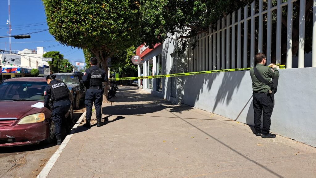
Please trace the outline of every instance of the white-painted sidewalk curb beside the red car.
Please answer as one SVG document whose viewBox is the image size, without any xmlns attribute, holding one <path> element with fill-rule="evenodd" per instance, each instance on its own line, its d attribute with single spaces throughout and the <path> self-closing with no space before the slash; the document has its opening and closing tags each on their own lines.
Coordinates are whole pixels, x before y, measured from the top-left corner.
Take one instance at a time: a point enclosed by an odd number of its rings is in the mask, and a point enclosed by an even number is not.
<svg viewBox="0 0 316 178">
<path fill-rule="evenodd" d="M 85 110 L 81 117 L 78 119 L 78 121 L 76 122 L 76 124 L 72 127 L 71 129 L 71 133 L 68 134 L 66 136 L 66 138 L 64 139 L 63 143 L 58 147 L 58 149 L 56 150 L 56 152 L 52 155 L 52 157 L 48 160 L 48 162 L 46 163 L 45 167 L 40 171 L 40 174 L 36 177 L 36 178 L 46 178 L 47 175 L 51 172 L 53 166 L 55 165 L 58 157 L 60 156 L 60 154 L 63 152 L 63 150 L 66 148 L 68 142 L 70 141 L 71 137 L 74 135 L 74 133 L 77 130 L 77 127 L 80 125 L 80 123 L 83 121 L 83 118 L 86 116 L 86 111 Z"/>
</svg>

